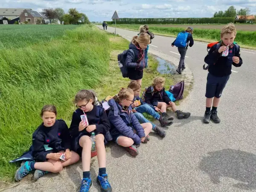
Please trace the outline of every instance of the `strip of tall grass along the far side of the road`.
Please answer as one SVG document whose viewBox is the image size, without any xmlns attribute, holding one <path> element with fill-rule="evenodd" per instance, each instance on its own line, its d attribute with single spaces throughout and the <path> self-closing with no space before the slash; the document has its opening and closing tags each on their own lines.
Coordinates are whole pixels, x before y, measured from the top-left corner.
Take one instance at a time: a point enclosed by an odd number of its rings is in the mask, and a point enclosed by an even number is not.
<svg viewBox="0 0 256 192">
<path fill-rule="evenodd" d="M 140 25 L 120 24 L 117 25 L 117 27 L 139 31 Z M 184 31 L 184 29 L 180 27 L 149 26 L 149 28 L 151 32 L 163 35 L 177 35 L 179 32 Z M 198 39 L 219 41 L 220 34 L 221 30 L 218 29 L 194 29 L 193 37 Z M 256 47 L 256 31 L 237 31 L 235 41 L 238 42 L 238 44 Z"/>
</svg>

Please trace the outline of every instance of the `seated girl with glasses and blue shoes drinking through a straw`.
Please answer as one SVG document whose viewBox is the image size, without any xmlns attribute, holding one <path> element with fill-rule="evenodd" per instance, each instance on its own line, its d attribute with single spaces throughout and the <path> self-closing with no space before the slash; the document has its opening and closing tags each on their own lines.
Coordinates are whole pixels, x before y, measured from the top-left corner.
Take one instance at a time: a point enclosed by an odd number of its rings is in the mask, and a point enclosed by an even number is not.
<svg viewBox="0 0 256 192">
<path fill-rule="evenodd" d="M 80 90 L 76 94 L 74 102 L 78 109 L 73 113 L 70 133 L 74 150 L 80 151 L 82 156 L 83 179 L 80 192 L 88 192 L 92 185 L 90 177 L 92 148 L 90 136 L 92 132 L 96 135 L 97 158 L 99 162 L 97 182 L 100 184 L 102 191 L 111 192 L 112 188 L 106 173 L 106 151 L 104 145 L 104 136 L 110 129 L 107 114 L 104 110 L 101 110 L 100 114 L 98 113 L 98 108 L 100 107 L 94 105 L 94 95 L 89 90 Z M 81 115 L 86 115 L 89 125 L 81 121 Z"/>
</svg>

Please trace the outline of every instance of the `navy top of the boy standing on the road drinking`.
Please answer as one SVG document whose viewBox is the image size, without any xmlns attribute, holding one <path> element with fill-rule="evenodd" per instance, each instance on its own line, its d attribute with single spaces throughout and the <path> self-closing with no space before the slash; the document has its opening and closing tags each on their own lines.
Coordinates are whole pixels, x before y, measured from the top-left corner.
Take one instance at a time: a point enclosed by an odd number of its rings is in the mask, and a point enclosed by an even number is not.
<svg viewBox="0 0 256 192">
<path fill-rule="evenodd" d="M 236 50 L 235 46 L 229 49 L 229 54 L 224 57 L 216 50 L 217 44 L 212 46 L 208 54 L 204 58 L 204 62 L 209 65 L 208 71 L 213 76 L 223 77 L 231 74 L 232 65 L 240 67 L 243 64 L 240 57 L 240 47 Z M 239 57 L 239 64 L 235 64 L 232 60 L 233 56 Z"/>
</svg>

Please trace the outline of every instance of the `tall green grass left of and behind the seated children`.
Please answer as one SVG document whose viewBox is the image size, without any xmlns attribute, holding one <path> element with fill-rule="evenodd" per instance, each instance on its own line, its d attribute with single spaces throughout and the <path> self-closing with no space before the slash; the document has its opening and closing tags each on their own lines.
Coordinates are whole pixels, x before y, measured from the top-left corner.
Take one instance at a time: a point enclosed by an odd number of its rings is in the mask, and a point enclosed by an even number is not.
<svg viewBox="0 0 256 192">
<path fill-rule="evenodd" d="M 57 34 L 61 27 L 62 36 L 34 44 L 45 38 L 45 33 Z M 9 160 L 31 145 L 31 135 L 41 124 L 43 105 L 55 105 L 58 117 L 69 120 L 76 92 L 95 87 L 107 73 L 108 36 L 90 25 L 67 31 L 61 27 L 40 26 L 38 36 L 30 40 L 16 39 L 13 32 L 28 29 L 26 26 L 6 29 L 17 44 L 31 46 L 15 48 L 13 42 L 6 41 L 9 49 L 0 52 L 0 180 L 13 178 L 17 168 Z M 40 29 L 44 29 L 41 34 Z"/>
</svg>

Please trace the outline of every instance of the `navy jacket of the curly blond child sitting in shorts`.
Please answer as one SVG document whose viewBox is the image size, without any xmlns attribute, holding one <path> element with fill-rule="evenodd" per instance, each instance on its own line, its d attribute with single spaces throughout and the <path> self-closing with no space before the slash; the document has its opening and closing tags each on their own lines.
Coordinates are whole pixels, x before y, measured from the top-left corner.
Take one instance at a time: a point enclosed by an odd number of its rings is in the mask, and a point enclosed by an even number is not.
<svg viewBox="0 0 256 192">
<path fill-rule="evenodd" d="M 169 104 L 171 99 L 166 94 L 164 87 L 162 90 L 156 91 L 152 86 L 150 86 L 145 93 L 145 102 L 157 107 L 157 102 L 165 102 L 166 104 Z"/>
</svg>

